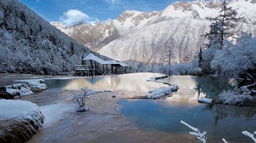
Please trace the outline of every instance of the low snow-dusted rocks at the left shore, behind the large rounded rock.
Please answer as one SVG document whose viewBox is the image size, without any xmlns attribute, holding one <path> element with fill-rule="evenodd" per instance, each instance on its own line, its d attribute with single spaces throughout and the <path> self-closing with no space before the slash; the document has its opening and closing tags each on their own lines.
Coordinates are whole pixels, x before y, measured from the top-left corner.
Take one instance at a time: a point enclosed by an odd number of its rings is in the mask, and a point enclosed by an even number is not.
<svg viewBox="0 0 256 143">
<path fill-rule="evenodd" d="M 45 90 L 46 84 L 42 83 L 44 80 L 26 80 L 26 83 L 13 84 L 5 86 L 6 92 L 13 97 L 28 96 L 34 94 L 31 88 L 39 88 Z"/>
</svg>

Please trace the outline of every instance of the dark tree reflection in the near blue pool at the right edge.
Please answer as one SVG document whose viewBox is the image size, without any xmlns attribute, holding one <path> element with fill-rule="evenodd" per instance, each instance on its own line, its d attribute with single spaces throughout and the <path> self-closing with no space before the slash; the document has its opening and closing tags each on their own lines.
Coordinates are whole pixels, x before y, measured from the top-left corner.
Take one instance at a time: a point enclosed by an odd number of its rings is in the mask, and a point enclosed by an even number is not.
<svg viewBox="0 0 256 143">
<path fill-rule="evenodd" d="M 252 118 L 256 110 L 253 108 L 244 108 L 244 107 L 234 107 L 222 104 L 206 104 L 205 110 L 210 110 L 215 113 L 215 125 L 218 121 L 225 117 L 241 117 L 245 116 L 246 118 Z"/>
</svg>

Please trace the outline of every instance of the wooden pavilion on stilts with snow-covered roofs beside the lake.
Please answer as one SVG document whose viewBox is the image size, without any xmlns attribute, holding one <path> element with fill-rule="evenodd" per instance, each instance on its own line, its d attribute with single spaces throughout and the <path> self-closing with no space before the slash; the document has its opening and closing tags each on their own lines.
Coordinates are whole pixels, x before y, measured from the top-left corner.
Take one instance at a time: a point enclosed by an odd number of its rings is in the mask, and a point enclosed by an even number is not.
<svg viewBox="0 0 256 143">
<path fill-rule="evenodd" d="M 99 76 L 126 74 L 127 64 L 114 60 L 105 61 L 92 53 L 82 59 L 83 65 L 75 65 L 75 76 Z"/>
</svg>

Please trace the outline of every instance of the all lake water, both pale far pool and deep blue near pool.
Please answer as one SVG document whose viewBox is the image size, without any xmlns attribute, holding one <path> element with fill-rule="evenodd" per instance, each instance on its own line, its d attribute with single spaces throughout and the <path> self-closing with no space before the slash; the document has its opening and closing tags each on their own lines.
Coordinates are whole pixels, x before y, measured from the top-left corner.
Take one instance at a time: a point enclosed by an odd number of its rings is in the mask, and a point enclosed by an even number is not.
<svg viewBox="0 0 256 143">
<path fill-rule="evenodd" d="M 162 83 L 146 80 L 160 74 L 136 73 L 112 75 L 93 78 L 78 78 L 66 80 L 46 80 L 51 88 L 80 89 L 88 86 L 91 90 L 125 90 L 147 93 L 148 90 L 168 86 Z M 179 89 L 172 96 L 159 100 L 120 100 L 120 113 L 129 118 L 138 128 L 164 132 L 189 132 L 181 120 L 191 126 L 198 125 L 201 131 L 207 132 L 207 137 L 222 137 L 236 140 L 246 140 L 241 133 L 244 130 L 256 130 L 256 108 L 234 107 L 221 104 L 200 104 L 199 98 L 211 98 L 219 101 L 218 94 L 222 90 L 231 89 L 236 85 L 234 79 L 172 76 L 157 80 L 178 84 Z M 197 114 L 197 123 L 194 120 Z M 240 140 L 241 141 L 241 140 Z M 221 140 L 220 140 L 221 142 Z M 248 142 L 248 140 L 247 140 Z"/>
</svg>

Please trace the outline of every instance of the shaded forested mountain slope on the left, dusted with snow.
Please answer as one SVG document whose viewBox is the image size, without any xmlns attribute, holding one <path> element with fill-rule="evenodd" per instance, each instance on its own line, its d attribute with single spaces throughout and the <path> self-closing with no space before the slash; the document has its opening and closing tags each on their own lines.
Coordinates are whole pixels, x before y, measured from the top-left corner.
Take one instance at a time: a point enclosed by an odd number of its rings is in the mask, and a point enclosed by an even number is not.
<svg viewBox="0 0 256 143">
<path fill-rule="evenodd" d="M 0 72 L 67 74 L 90 52 L 22 3 L 0 1 Z"/>
</svg>

